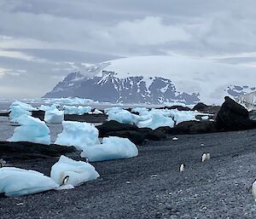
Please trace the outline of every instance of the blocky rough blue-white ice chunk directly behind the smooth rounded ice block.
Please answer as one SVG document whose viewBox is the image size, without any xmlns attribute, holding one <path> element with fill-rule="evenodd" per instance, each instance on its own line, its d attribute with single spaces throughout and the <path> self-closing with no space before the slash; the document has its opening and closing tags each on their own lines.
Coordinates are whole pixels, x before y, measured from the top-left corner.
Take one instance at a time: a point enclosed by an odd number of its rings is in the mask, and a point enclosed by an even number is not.
<svg viewBox="0 0 256 219">
<path fill-rule="evenodd" d="M 93 124 L 73 121 L 62 122 L 63 131 L 58 135 L 55 144 L 73 146 L 78 150 L 99 144 L 99 131 Z"/>
</svg>

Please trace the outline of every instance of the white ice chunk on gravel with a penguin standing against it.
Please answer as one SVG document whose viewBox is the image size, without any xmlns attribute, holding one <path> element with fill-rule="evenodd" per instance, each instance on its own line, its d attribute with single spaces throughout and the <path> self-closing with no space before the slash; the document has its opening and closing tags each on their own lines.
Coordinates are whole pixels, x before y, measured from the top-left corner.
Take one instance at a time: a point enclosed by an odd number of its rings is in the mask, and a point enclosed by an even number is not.
<svg viewBox="0 0 256 219">
<path fill-rule="evenodd" d="M 93 165 L 61 155 L 59 161 L 51 167 L 50 177 L 61 185 L 66 176 L 69 176 L 67 185 L 76 187 L 84 182 L 96 180 L 100 175 Z"/>
</svg>

